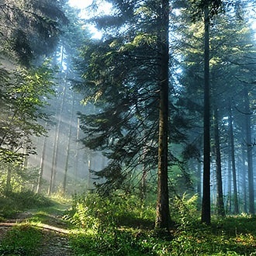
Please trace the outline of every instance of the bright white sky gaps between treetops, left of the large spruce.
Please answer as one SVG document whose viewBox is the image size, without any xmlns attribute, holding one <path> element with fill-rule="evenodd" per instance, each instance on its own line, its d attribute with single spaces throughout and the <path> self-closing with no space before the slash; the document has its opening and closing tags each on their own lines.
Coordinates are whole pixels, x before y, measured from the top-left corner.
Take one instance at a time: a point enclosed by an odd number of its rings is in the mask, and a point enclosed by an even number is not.
<svg viewBox="0 0 256 256">
<path fill-rule="evenodd" d="M 89 13 L 88 9 L 86 9 L 89 5 L 92 5 L 92 2 L 93 0 L 69 0 L 68 4 L 71 7 L 80 9 L 81 19 L 86 19 L 92 17 L 92 13 Z M 107 15 L 111 12 L 111 7 L 112 5 L 109 2 L 102 1 L 95 15 Z M 102 33 L 95 26 L 88 25 L 87 27 L 92 33 L 92 38 L 100 39 L 102 37 Z"/>
</svg>

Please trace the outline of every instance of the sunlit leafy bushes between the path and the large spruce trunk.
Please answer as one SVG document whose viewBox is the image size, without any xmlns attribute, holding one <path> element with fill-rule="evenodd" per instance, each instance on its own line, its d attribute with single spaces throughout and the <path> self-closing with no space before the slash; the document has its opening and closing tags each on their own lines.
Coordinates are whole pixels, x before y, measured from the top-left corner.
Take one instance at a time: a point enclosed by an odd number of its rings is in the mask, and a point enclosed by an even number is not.
<svg viewBox="0 0 256 256">
<path fill-rule="evenodd" d="M 74 195 L 72 208 L 66 216 L 67 220 L 78 227 L 92 230 L 106 227 L 152 227 L 154 211 L 147 206 L 138 206 L 136 196 L 125 196 L 116 193 L 111 197 L 97 194 Z M 144 208 L 144 212 L 141 211 Z"/>
</svg>

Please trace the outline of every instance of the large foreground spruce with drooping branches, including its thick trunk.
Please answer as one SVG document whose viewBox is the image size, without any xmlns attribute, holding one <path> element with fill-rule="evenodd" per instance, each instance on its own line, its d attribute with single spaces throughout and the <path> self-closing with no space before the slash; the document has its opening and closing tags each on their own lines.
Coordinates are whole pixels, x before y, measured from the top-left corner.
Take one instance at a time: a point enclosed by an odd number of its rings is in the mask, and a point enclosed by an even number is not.
<svg viewBox="0 0 256 256">
<path fill-rule="evenodd" d="M 134 168 L 141 164 L 154 170 L 158 154 L 156 227 L 168 229 L 168 161 L 175 161 L 168 144 L 184 139 L 177 127 L 168 133 L 168 109 L 173 107 L 168 101 L 170 7 L 168 1 L 112 3 L 114 18 L 93 19 L 109 33 L 101 41 L 87 43 L 83 50 L 86 86 L 81 85 L 81 92 L 99 111 L 80 114 L 83 143 L 93 150 L 105 150 L 109 157 L 109 166 L 95 173 L 106 178 L 99 185 L 103 194 L 129 189 L 127 179 Z M 175 116 L 175 110 L 171 114 Z"/>
</svg>

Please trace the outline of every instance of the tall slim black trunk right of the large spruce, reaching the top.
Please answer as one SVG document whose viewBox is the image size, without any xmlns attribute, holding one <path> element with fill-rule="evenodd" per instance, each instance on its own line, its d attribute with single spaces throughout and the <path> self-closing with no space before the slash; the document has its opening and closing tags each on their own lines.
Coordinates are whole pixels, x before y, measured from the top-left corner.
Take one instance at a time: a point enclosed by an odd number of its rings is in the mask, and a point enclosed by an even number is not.
<svg viewBox="0 0 256 256">
<path fill-rule="evenodd" d="M 204 117 L 203 117 L 203 185 L 202 185 L 202 223 L 211 222 L 210 206 L 210 89 L 209 89 L 209 3 L 204 8 L 205 49 L 204 49 Z"/>
</svg>

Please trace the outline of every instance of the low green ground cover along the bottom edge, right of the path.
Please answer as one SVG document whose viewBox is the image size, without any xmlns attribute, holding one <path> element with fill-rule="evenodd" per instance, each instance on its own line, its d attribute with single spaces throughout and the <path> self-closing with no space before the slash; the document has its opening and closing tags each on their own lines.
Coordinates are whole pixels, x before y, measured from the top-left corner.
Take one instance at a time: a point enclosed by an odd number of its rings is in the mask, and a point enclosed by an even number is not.
<svg viewBox="0 0 256 256">
<path fill-rule="evenodd" d="M 213 227 L 198 223 L 188 230 L 174 230 L 171 240 L 157 237 L 154 230 L 106 227 L 74 235 L 72 247 L 76 255 L 256 255 L 255 221 L 239 217 L 239 227 L 244 225 L 244 229 L 237 234 L 236 223 L 230 217 L 217 230 L 216 223 Z"/>
</svg>

